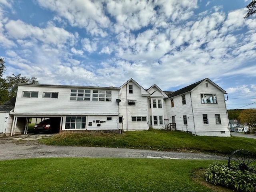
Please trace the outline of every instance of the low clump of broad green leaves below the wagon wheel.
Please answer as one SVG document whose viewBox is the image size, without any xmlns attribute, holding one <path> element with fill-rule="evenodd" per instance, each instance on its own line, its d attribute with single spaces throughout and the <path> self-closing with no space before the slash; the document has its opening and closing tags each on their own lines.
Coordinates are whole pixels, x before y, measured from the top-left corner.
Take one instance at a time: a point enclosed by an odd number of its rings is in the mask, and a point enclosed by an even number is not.
<svg viewBox="0 0 256 192">
<path fill-rule="evenodd" d="M 213 162 L 204 174 L 204 179 L 214 185 L 225 186 L 241 192 L 256 192 L 256 174 L 233 170 L 227 164 Z"/>
</svg>

